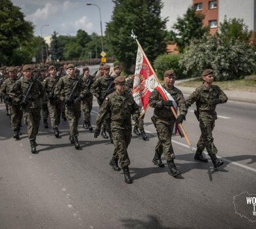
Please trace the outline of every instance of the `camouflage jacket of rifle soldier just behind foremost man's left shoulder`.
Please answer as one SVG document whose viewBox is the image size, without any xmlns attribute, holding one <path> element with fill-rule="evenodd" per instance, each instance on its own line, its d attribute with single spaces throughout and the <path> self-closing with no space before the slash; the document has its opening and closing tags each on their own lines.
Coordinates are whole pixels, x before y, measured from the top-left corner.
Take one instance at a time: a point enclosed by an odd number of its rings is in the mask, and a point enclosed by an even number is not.
<svg viewBox="0 0 256 229">
<path fill-rule="evenodd" d="M 104 96 L 110 84 L 112 84 L 112 86 L 110 87 L 110 90 L 109 92 L 106 93 L 106 95 L 114 91 L 113 81 L 114 81 L 114 78 L 110 76 L 108 77 L 104 76 L 96 79 L 93 85 L 91 86 L 91 90 L 90 90 L 91 94 L 93 94 L 93 96 L 95 96 L 97 99 L 103 99 L 102 96 Z"/>
</svg>

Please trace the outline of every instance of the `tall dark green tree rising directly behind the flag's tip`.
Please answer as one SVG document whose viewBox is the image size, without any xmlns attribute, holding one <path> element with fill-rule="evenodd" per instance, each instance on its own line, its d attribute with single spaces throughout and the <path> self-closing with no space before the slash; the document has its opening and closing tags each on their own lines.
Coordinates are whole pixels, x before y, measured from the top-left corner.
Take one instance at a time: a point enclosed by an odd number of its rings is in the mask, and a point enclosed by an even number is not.
<svg viewBox="0 0 256 229">
<path fill-rule="evenodd" d="M 135 32 L 150 62 L 165 52 L 167 18 L 161 19 L 161 0 L 113 0 L 112 20 L 106 26 L 106 48 L 122 62 L 125 71 L 134 71 L 137 43 Z"/>
</svg>

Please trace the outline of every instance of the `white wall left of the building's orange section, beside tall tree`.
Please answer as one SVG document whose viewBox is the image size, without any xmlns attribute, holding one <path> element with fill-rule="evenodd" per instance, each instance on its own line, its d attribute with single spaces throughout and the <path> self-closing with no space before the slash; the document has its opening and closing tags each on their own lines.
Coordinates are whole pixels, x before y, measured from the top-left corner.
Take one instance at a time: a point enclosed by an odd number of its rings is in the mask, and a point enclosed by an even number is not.
<svg viewBox="0 0 256 229">
<path fill-rule="evenodd" d="M 170 31 L 173 24 L 177 22 L 177 17 L 182 17 L 188 7 L 192 5 L 192 0 L 162 0 L 162 2 L 163 9 L 161 10 L 161 17 L 168 17 L 169 21 L 166 24 L 168 31 Z"/>
</svg>

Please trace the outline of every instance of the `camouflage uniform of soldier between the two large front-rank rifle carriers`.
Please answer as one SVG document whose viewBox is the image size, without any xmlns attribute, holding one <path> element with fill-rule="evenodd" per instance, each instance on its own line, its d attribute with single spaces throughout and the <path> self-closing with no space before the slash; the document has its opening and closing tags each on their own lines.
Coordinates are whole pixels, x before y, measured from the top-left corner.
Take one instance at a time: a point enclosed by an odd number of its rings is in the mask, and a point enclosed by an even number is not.
<svg viewBox="0 0 256 229">
<path fill-rule="evenodd" d="M 54 97 L 54 92 L 52 92 L 55 80 L 58 81 L 59 77 L 53 78 L 49 76 L 45 78 L 42 83 L 45 88 L 45 92 L 47 93 L 47 107 L 48 107 L 53 129 L 58 128 L 58 124 L 60 124 L 60 115 L 62 113 L 62 105 L 63 105 L 62 101 L 60 101 L 59 98 Z M 53 96 L 53 99 L 49 99 L 50 95 Z"/>
</svg>

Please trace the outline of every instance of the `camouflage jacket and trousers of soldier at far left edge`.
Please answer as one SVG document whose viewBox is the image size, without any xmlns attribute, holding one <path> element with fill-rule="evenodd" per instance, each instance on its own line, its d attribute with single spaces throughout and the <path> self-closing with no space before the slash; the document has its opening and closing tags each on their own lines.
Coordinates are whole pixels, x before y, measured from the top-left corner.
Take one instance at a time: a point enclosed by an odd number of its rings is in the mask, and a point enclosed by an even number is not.
<svg viewBox="0 0 256 229">
<path fill-rule="evenodd" d="M 12 79 L 11 77 L 6 79 L 1 85 L 0 94 L 9 96 L 9 92 L 16 80 L 17 79 Z M 8 103 L 8 101 L 6 101 L 6 103 Z M 12 101 L 9 103 L 8 109 L 9 115 L 11 116 L 11 128 L 14 132 L 18 132 L 22 125 L 22 111 L 20 110 L 20 105 L 15 101 Z"/>
</svg>

